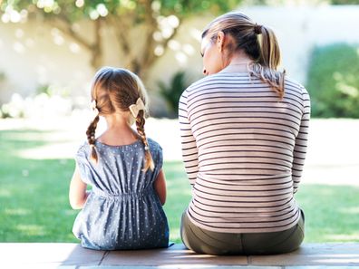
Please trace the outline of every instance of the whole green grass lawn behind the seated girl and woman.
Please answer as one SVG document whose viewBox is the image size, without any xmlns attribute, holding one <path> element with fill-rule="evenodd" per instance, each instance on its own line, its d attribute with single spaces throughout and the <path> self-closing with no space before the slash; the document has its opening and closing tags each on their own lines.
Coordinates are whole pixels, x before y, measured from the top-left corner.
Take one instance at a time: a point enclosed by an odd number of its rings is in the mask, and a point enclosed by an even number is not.
<svg viewBox="0 0 359 269">
<path fill-rule="evenodd" d="M 24 159 L 20 152 L 44 146 L 48 133 L 0 131 L 0 242 L 78 242 L 71 232 L 77 211 L 68 203 L 73 159 Z M 165 210 L 170 239 L 179 242 L 179 219 L 190 189 L 181 162 L 166 162 Z M 302 185 L 306 242 L 359 242 L 359 187 Z"/>
</svg>

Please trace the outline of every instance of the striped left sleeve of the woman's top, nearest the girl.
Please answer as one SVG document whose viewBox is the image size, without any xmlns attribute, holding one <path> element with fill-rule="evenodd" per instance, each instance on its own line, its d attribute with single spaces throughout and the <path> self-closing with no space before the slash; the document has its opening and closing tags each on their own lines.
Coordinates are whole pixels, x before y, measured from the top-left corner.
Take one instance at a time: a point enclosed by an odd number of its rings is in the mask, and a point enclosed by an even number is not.
<svg viewBox="0 0 359 269">
<path fill-rule="evenodd" d="M 190 128 L 189 111 L 187 107 L 188 92 L 183 91 L 179 99 L 179 132 L 182 145 L 182 159 L 189 178 L 190 185 L 196 183 L 199 172 L 199 156 L 196 139 Z"/>
</svg>

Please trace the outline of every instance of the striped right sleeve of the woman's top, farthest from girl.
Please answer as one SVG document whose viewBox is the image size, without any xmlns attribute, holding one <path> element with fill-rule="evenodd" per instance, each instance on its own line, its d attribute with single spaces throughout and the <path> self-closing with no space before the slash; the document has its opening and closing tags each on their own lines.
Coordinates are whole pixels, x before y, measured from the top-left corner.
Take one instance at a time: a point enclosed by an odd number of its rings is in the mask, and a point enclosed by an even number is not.
<svg viewBox="0 0 359 269">
<path fill-rule="evenodd" d="M 306 89 L 303 88 L 303 115 L 300 123 L 296 145 L 294 149 L 294 159 L 292 167 L 293 192 L 296 193 L 299 182 L 302 178 L 303 168 L 306 160 L 306 147 L 308 142 L 308 129 L 310 120 L 310 98 Z"/>
</svg>

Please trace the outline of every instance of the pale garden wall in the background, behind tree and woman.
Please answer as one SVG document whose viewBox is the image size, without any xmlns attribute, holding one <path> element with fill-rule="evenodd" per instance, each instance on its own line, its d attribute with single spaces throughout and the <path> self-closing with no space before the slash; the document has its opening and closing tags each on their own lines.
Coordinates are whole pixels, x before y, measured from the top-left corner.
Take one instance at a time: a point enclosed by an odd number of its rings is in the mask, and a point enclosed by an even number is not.
<svg viewBox="0 0 359 269">
<path fill-rule="evenodd" d="M 243 7 L 257 24 L 271 26 L 282 51 L 283 67 L 299 82 L 306 81 L 308 55 L 313 46 L 326 43 L 359 43 L 359 5 L 320 7 Z M 164 102 L 153 94 L 157 82 L 168 82 L 174 72 L 186 70 L 189 78 L 200 77 L 200 34 L 212 16 L 195 17 L 182 24 L 177 38 L 160 61 L 149 71 L 147 87 L 152 92 L 152 107 L 163 110 Z M 78 25 L 83 36 L 91 38 L 89 25 Z M 91 27 L 91 25 L 90 25 Z M 111 29 L 103 33 L 107 53 L 105 63 L 118 65 L 123 55 L 112 43 Z M 11 92 L 28 95 L 39 84 L 66 87 L 74 96 L 88 97 L 93 70 L 90 54 L 81 45 L 42 22 L 26 24 L 0 23 L 0 102 L 8 101 Z"/>
</svg>

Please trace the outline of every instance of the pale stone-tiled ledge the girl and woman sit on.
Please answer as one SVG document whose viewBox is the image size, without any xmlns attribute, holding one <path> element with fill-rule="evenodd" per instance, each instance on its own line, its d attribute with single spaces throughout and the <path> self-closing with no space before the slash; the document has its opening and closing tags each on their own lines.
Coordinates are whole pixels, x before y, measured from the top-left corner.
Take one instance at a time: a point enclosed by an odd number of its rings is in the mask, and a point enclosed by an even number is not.
<svg viewBox="0 0 359 269">
<path fill-rule="evenodd" d="M 0 268 L 227 269 L 266 266 L 283 269 L 309 265 L 315 268 L 359 268 L 359 243 L 305 244 L 290 254 L 266 256 L 197 255 L 181 244 L 156 250 L 93 251 L 72 243 L 0 243 L 0 255 Z"/>
</svg>

